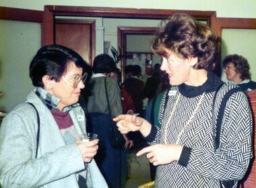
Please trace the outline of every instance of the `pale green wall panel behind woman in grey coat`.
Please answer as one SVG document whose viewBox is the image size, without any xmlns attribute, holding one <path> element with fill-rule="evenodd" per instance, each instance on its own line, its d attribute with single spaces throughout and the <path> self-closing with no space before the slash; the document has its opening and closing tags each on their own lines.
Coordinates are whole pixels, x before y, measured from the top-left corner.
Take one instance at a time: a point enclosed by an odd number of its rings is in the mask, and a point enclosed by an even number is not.
<svg viewBox="0 0 256 188">
<path fill-rule="evenodd" d="M 40 48 L 40 30 L 40 23 L 0 19 L 0 110 L 9 111 L 32 89 L 28 66 Z"/>
</svg>

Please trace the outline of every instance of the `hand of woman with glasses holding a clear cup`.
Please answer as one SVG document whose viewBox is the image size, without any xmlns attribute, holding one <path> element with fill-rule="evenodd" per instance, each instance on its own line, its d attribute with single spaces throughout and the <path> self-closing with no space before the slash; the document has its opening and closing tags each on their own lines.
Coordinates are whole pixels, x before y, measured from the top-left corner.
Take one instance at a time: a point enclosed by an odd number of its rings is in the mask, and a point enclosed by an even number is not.
<svg viewBox="0 0 256 188">
<path fill-rule="evenodd" d="M 91 162 L 92 158 L 97 153 L 98 150 L 98 139 L 89 141 L 89 142 L 81 142 L 81 140 L 76 140 L 75 144 L 77 144 L 84 162 Z"/>
</svg>

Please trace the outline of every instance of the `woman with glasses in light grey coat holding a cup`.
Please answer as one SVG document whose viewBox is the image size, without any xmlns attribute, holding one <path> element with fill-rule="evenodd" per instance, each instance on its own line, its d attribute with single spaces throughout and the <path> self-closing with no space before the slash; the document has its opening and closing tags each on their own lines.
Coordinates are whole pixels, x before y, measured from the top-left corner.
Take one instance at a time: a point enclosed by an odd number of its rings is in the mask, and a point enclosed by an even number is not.
<svg viewBox="0 0 256 188">
<path fill-rule="evenodd" d="M 86 118 L 77 101 L 86 67 L 65 46 L 38 50 L 30 63 L 35 89 L 1 124 L 3 187 L 107 187 L 93 160 L 99 140 L 80 141 Z"/>
</svg>

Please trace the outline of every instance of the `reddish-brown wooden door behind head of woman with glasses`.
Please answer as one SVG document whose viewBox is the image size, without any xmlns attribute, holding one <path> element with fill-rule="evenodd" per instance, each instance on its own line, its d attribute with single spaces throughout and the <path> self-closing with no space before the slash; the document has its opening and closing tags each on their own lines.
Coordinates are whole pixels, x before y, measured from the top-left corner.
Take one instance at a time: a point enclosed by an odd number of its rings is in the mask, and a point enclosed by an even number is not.
<svg viewBox="0 0 256 188">
<path fill-rule="evenodd" d="M 95 20 L 55 19 L 55 44 L 67 46 L 92 64 L 95 50 Z"/>
</svg>

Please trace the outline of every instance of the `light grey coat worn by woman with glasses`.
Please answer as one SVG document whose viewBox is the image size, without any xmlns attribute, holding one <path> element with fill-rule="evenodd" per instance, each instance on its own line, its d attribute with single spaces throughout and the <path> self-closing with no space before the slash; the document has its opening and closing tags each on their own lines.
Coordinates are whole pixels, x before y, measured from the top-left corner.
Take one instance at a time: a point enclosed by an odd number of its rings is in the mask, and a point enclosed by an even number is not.
<svg viewBox="0 0 256 188">
<path fill-rule="evenodd" d="M 78 187 L 75 173 L 84 170 L 84 161 L 75 143 L 65 140 L 49 109 L 31 91 L 26 102 L 33 103 L 40 116 L 40 141 L 36 154 L 36 111 L 27 103 L 16 106 L 0 128 L 0 183 L 3 187 Z M 84 111 L 69 111 L 78 134 L 86 132 Z M 81 118 L 83 117 L 83 118 Z M 107 187 L 94 160 L 89 173 L 93 187 Z"/>
</svg>

